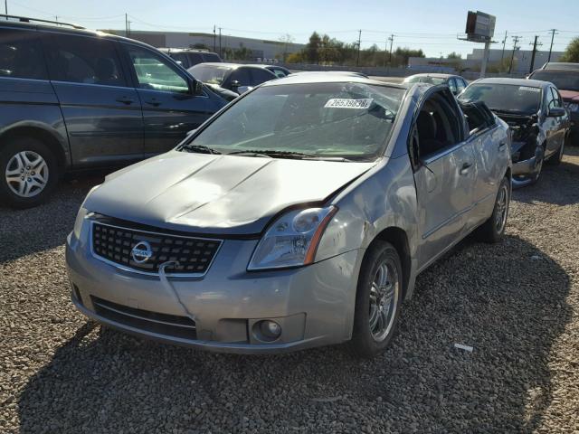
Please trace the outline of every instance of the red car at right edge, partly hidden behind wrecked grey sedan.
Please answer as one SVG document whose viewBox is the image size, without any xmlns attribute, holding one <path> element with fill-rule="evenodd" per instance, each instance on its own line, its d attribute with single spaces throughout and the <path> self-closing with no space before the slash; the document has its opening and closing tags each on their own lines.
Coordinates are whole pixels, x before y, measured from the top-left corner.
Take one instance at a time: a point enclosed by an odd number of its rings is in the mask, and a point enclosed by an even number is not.
<svg viewBox="0 0 579 434">
<path fill-rule="evenodd" d="M 550 62 L 528 77 L 532 80 L 550 81 L 559 90 L 571 117 L 569 138 L 579 146 L 579 63 Z"/>
</svg>

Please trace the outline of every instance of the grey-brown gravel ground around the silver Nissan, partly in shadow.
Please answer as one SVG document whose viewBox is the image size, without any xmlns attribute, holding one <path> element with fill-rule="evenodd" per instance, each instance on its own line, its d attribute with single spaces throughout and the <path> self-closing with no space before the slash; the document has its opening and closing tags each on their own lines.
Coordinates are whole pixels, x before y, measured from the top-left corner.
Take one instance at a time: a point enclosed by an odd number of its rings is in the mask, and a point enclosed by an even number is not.
<svg viewBox="0 0 579 434">
<path fill-rule="evenodd" d="M 207 354 L 88 322 L 63 241 L 97 182 L 0 208 L 1 432 L 579 432 L 579 149 L 514 194 L 505 241 L 464 241 L 418 278 L 373 361 Z"/>
</svg>

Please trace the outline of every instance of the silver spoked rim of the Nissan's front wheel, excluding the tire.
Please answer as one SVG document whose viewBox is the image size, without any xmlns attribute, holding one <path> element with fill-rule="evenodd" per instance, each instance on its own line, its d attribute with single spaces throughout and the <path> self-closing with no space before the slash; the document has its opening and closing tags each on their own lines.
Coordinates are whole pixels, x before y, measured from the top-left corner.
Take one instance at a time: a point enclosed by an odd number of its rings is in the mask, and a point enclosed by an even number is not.
<svg viewBox="0 0 579 434">
<path fill-rule="evenodd" d="M 384 259 L 370 288 L 370 333 L 376 342 L 390 334 L 398 304 L 400 282 L 392 259 Z"/>
</svg>

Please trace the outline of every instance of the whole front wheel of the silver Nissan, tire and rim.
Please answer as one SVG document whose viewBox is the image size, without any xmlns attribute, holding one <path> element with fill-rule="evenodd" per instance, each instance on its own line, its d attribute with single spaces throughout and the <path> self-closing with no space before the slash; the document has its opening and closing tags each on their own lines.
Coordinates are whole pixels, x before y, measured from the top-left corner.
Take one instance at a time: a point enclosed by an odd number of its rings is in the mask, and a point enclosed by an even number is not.
<svg viewBox="0 0 579 434">
<path fill-rule="evenodd" d="M 358 277 L 351 342 L 356 356 L 370 358 L 384 352 L 395 333 L 402 301 L 400 256 L 389 242 L 375 241 L 365 253 Z"/>
</svg>

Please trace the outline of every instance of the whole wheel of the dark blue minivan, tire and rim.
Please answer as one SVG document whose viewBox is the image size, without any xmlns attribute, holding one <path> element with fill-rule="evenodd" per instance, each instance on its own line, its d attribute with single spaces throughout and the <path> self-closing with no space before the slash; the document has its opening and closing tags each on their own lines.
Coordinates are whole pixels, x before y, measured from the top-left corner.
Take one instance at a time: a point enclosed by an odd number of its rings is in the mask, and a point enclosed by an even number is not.
<svg viewBox="0 0 579 434">
<path fill-rule="evenodd" d="M 0 199 L 14 208 L 43 203 L 58 183 L 58 172 L 56 157 L 43 142 L 15 138 L 0 148 Z"/>
</svg>

